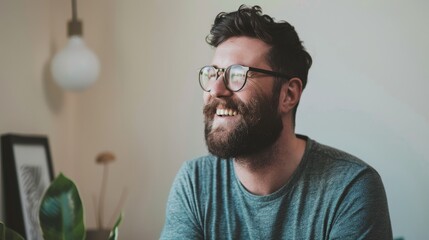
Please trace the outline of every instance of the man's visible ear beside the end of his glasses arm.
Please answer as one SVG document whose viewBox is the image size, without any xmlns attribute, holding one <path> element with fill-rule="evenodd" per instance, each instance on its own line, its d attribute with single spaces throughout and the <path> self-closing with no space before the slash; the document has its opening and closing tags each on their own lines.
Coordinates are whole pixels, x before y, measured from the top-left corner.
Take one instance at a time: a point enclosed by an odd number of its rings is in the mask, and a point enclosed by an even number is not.
<svg viewBox="0 0 429 240">
<path fill-rule="evenodd" d="M 279 96 L 279 112 L 286 114 L 298 104 L 302 94 L 302 81 L 299 78 L 291 78 L 282 85 Z"/>
</svg>

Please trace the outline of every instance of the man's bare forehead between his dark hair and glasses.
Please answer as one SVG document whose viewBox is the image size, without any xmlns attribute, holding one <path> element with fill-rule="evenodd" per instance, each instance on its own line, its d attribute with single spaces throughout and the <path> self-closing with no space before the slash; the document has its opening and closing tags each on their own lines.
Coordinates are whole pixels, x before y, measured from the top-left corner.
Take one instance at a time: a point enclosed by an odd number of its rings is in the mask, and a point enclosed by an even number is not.
<svg viewBox="0 0 429 240">
<path fill-rule="evenodd" d="M 232 37 L 217 46 L 212 64 L 225 68 L 233 64 L 249 67 L 267 68 L 266 60 L 270 46 L 250 37 Z"/>
</svg>

